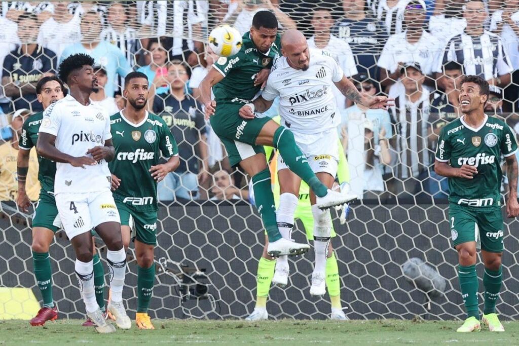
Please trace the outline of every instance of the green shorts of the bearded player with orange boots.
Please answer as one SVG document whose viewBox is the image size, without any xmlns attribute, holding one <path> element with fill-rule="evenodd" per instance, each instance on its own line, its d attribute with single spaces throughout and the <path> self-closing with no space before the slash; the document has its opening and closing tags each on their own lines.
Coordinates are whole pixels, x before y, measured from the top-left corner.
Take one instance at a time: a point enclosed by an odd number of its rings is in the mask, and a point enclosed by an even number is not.
<svg viewBox="0 0 519 346">
<path fill-rule="evenodd" d="M 126 203 L 115 201 L 121 217 L 121 226 L 132 229 L 131 239 L 141 243 L 157 245 L 157 212 L 139 212 L 131 209 Z"/>
</svg>

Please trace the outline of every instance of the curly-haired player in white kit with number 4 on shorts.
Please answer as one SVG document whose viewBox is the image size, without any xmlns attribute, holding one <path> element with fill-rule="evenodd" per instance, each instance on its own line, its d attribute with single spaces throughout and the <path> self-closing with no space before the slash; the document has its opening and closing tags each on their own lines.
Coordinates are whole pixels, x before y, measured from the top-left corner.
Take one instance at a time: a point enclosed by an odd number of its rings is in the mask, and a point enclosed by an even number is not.
<svg viewBox="0 0 519 346">
<path fill-rule="evenodd" d="M 115 328 L 106 322 L 95 300 L 92 228 L 108 248 L 112 290 L 108 311 L 119 328 L 129 329 L 131 322 L 122 303 L 126 253 L 107 163 L 114 158 L 110 115 L 90 102 L 90 94 L 98 88 L 93 64 L 87 54 L 74 54 L 60 64 L 60 78 L 70 94 L 45 109 L 36 149 L 40 156 L 57 162 L 54 195 L 76 254 L 75 270 L 87 315 L 99 333 L 111 333 Z"/>
</svg>

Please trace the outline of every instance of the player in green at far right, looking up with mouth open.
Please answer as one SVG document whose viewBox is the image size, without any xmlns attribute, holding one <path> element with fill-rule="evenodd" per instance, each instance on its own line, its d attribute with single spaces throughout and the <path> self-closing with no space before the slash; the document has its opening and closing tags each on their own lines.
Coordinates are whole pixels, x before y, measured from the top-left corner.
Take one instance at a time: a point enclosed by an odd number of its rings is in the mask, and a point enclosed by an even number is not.
<svg viewBox="0 0 519 346">
<path fill-rule="evenodd" d="M 519 216 L 517 203 L 517 143 L 510 127 L 484 113 L 488 82 L 466 76 L 461 82 L 459 103 L 463 115 L 440 133 L 434 171 L 448 177 L 449 226 L 458 251 L 458 278 L 467 309 L 459 332 L 481 329 L 478 309 L 476 243 L 481 243 L 485 266 L 483 322 L 490 331 L 504 331 L 496 314 L 502 283 L 503 219 L 501 216 L 501 156 L 507 162 L 508 217 Z"/>
</svg>

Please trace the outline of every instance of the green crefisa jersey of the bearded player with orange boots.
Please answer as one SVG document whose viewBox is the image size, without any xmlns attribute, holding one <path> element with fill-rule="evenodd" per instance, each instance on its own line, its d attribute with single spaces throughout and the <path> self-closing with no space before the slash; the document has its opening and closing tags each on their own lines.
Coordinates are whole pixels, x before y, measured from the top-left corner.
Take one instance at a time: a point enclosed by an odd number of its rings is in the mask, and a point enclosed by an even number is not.
<svg viewBox="0 0 519 346">
<path fill-rule="evenodd" d="M 139 124 L 129 122 L 121 112 L 110 117 L 115 158 L 110 171 L 121 179 L 114 199 L 137 211 L 157 210 L 157 182 L 149 169 L 166 158 L 178 155 L 175 139 L 162 118 L 147 113 Z"/>
</svg>

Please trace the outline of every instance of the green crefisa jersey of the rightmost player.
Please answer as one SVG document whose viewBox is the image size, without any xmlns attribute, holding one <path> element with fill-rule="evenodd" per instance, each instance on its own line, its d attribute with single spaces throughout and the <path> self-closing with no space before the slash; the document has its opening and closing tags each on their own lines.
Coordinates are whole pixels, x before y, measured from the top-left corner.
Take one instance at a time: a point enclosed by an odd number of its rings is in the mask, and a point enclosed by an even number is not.
<svg viewBox="0 0 519 346">
<path fill-rule="evenodd" d="M 515 154 L 517 143 L 510 127 L 498 118 L 488 117 L 479 129 L 462 118 L 445 125 L 436 148 L 436 160 L 459 168 L 477 168 L 473 179 L 449 178 L 449 201 L 468 206 L 501 205 L 501 155 Z"/>
</svg>

